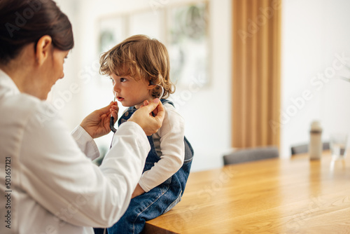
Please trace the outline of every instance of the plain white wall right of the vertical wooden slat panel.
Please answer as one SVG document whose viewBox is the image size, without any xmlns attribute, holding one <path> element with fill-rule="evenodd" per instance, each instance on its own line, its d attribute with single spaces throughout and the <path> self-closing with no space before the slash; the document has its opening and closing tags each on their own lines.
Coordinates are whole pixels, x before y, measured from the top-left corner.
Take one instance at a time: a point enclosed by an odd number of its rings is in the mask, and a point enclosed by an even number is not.
<svg viewBox="0 0 350 234">
<path fill-rule="evenodd" d="M 290 145 L 309 142 L 313 120 L 321 121 L 325 141 L 330 132 L 350 133 L 350 83 L 339 80 L 350 73 L 336 57 L 344 53 L 350 65 L 350 1 L 282 6 L 281 155 L 288 157 Z"/>
</svg>

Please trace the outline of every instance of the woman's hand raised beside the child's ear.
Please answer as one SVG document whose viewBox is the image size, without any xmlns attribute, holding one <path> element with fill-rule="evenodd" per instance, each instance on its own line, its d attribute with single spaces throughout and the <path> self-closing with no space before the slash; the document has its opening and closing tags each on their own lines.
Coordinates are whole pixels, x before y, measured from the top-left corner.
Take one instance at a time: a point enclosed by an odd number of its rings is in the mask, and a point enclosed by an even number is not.
<svg viewBox="0 0 350 234">
<path fill-rule="evenodd" d="M 152 116 L 152 112 L 155 116 Z M 165 116 L 164 106 L 160 99 L 156 98 L 153 102 L 144 102 L 144 106 L 135 111 L 128 121 L 132 121 L 141 126 L 146 135 L 151 136 L 157 132 Z"/>
</svg>

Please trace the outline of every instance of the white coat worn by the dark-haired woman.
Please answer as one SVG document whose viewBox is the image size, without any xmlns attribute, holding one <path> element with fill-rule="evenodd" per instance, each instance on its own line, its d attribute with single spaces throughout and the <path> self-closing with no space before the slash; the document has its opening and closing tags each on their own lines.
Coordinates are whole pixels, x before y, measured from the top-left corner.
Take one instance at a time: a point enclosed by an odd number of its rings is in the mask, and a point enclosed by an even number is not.
<svg viewBox="0 0 350 234">
<path fill-rule="evenodd" d="M 0 233 L 93 233 L 116 223 L 150 146 L 132 122 L 112 144 L 97 167 L 86 157 L 99 156 L 90 135 L 80 126 L 70 134 L 50 104 L 0 70 Z"/>
</svg>

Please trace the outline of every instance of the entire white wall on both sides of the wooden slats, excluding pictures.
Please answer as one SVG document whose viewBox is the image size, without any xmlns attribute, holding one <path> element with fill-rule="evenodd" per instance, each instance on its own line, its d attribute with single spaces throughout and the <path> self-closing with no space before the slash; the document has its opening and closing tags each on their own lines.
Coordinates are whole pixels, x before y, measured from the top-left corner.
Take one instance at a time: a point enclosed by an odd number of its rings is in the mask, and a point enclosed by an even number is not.
<svg viewBox="0 0 350 234">
<path fill-rule="evenodd" d="M 179 4 L 176 1 L 68 1 L 57 0 L 73 23 L 76 46 L 66 61 L 64 80 L 54 88 L 52 102 L 70 128 L 87 113 L 111 101 L 109 81 L 98 74 L 97 19 L 111 13 L 151 10 L 152 2 Z M 186 135 L 195 149 L 193 170 L 222 165 L 221 156 L 230 150 L 230 77 L 231 77 L 231 1 L 210 1 L 212 48 L 211 83 L 191 92 L 179 106 L 186 119 Z M 161 5 L 160 5 L 161 6 Z M 165 5 L 166 6 L 166 5 Z M 282 87 L 281 156 L 290 156 L 290 145 L 309 141 L 309 125 L 318 119 L 323 139 L 332 131 L 350 133 L 350 83 L 339 74 L 350 76 L 335 54 L 350 57 L 350 1 L 283 0 L 282 4 Z M 347 61 L 350 64 L 350 61 Z M 331 74 L 335 66 L 336 74 Z M 329 79 L 317 79 L 326 72 Z M 316 77 L 316 78 L 315 78 Z M 69 95 L 69 85 L 77 83 L 78 92 Z M 182 87 L 176 94 L 188 91 Z M 109 145 L 111 135 L 98 139 Z"/>
</svg>

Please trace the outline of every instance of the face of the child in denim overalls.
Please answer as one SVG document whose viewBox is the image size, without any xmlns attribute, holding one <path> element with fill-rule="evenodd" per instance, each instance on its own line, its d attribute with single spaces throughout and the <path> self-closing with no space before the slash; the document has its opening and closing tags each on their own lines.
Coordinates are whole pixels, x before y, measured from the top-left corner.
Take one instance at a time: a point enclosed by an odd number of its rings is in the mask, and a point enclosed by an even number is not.
<svg viewBox="0 0 350 234">
<path fill-rule="evenodd" d="M 135 106 L 139 108 L 144 100 L 151 100 L 149 90 L 151 87 L 144 78 L 135 80 L 130 76 L 111 75 L 113 90 L 116 92 L 116 98 L 123 106 Z"/>
</svg>

